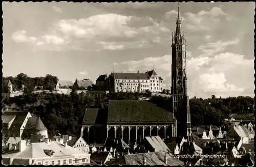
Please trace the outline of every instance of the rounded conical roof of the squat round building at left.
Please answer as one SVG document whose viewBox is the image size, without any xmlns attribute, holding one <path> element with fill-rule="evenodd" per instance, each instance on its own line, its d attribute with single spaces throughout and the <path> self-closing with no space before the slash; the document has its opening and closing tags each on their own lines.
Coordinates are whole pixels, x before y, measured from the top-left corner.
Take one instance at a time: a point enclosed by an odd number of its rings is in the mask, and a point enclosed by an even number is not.
<svg viewBox="0 0 256 167">
<path fill-rule="evenodd" d="M 30 117 L 24 129 L 47 130 L 39 117 Z"/>
</svg>

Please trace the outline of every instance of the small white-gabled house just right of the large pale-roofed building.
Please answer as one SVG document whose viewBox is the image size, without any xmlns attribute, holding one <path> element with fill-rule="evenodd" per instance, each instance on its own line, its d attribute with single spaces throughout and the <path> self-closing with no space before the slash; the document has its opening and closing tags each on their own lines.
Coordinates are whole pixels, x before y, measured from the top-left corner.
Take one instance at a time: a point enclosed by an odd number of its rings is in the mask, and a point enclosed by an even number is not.
<svg viewBox="0 0 256 167">
<path fill-rule="evenodd" d="M 90 152 L 90 146 L 83 140 L 82 137 L 74 137 L 68 141 L 68 145 L 73 148 L 77 148 L 83 152 Z"/>
</svg>

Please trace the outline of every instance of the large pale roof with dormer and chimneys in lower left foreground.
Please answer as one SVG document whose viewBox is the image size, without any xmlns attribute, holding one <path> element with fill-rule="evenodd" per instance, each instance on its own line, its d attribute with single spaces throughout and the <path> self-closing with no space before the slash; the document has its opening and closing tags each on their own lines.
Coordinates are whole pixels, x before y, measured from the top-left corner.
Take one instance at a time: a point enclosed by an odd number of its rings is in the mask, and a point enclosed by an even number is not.
<svg viewBox="0 0 256 167">
<path fill-rule="evenodd" d="M 28 159 L 28 158 L 47 158 L 49 155 L 46 154 L 45 150 L 53 150 L 53 157 L 61 156 L 72 156 L 74 154 L 86 154 L 78 149 L 74 149 L 70 146 L 65 147 L 57 142 L 50 142 L 46 144 L 45 142 L 41 143 L 31 143 L 26 146 L 25 150 L 22 152 L 5 154 L 2 155 L 3 158 L 17 158 L 17 159 Z"/>
</svg>

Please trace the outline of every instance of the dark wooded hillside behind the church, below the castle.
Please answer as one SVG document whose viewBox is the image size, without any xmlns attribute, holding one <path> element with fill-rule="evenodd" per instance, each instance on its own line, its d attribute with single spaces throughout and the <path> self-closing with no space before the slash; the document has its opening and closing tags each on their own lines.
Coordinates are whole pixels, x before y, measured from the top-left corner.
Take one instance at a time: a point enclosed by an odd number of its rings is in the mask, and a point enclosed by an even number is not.
<svg viewBox="0 0 256 167">
<path fill-rule="evenodd" d="M 79 134 L 78 126 L 83 119 L 86 108 L 106 108 L 108 100 L 136 100 L 151 94 L 113 93 L 96 98 L 83 92 L 70 95 L 53 93 L 29 93 L 22 96 L 6 98 L 4 106 L 13 106 L 17 110 L 28 110 L 39 116 L 48 127 L 50 134 L 59 131 L 62 134 Z M 151 102 L 170 110 L 169 97 L 153 96 Z M 15 104 L 15 105 L 14 105 Z M 224 119 L 230 113 L 253 113 L 254 99 L 251 97 L 190 99 L 191 126 L 224 124 Z"/>
</svg>

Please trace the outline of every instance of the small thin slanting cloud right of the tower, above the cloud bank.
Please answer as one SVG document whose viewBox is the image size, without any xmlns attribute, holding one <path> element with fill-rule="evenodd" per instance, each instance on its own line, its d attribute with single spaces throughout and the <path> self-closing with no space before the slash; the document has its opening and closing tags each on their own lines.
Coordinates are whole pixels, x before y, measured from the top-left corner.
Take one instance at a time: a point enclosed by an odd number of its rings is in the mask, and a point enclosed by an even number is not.
<svg viewBox="0 0 256 167">
<path fill-rule="evenodd" d="M 226 49 L 227 46 L 229 45 L 235 45 L 238 44 L 239 40 L 231 40 L 231 41 L 217 41 L 214 43 L 208 43 L 206 45 L 200 45 L 198 47 L 199 50 L 201 50 L 202 52 L 204 52 L 207 55 L 211 55 L 220 51 L 223 51 Z"/>
</svg>

